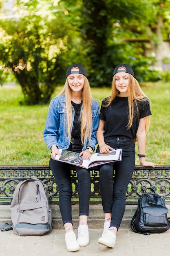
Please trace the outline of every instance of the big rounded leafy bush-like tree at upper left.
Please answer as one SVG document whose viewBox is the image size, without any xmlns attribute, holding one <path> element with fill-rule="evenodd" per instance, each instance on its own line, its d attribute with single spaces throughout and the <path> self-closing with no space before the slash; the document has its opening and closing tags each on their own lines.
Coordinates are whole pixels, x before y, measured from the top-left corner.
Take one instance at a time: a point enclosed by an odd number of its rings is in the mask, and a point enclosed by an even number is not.
<svg viewBox="0 0 170 256">
<path fill-rule="evenodd" d="M 66 57 L 72 52 L 70 25 L 64 11 L 43 11 L 46 1 L 21 2 L 22 16 L 1 22 L 5 29 L 1 29 L 0 58 L 20 83 L 27 104 L 47 103 L 55 86 L 64 82 Z M 41 13 L 30 11 L 35 6 Z"/>
</svg>

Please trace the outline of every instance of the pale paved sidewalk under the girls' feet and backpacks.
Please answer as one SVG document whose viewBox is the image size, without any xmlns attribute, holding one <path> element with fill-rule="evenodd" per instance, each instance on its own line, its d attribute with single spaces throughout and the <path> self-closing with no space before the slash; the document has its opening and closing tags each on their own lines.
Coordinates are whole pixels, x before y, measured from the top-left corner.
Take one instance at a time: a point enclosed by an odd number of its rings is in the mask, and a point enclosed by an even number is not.
<svg viewBox="0 0 170 256">
<path fill-rule="evenodd" d="M 75 230 L 77 235 L 77 230 Z M 68 252 L 64 229 L 45 236 L 17 236 L 0 232 L 0 256 L 170 256 L 170 230 L 144 236 L 131 229 L 119 229 L 115 248 L 99 245 L 102 229 L 89 229 L 90 244 L 77 252 Z"/>
</svg>

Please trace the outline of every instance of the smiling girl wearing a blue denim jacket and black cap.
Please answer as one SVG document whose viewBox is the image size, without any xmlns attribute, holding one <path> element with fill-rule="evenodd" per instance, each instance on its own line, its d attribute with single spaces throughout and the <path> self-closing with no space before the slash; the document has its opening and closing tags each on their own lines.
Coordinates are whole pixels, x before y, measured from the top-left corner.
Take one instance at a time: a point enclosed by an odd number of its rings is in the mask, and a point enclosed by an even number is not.
<svg viewBox="0 0 170 256">
<path fill-rule="evenodd" d="M 78 177 L 79 227 L 78 238 L 73 231 L 71 214 L 72 185 L 70 164 L 54 160 L 59 148 L 79 153 L 90 159 L 97 144 L 99 103 L 91 97 L 85 68 L 72 64 L 66 71 L 66 83 L 60 94 L 52 99 L 46 119 L 44 140 L 51 149 L 50 168 L 59 190 L 59 206 L 66 231 L 66 248 L 74 252 L 89 243 L 88 211 L 91 194 L 90 171 L 74 166 Z"/>
</svg>

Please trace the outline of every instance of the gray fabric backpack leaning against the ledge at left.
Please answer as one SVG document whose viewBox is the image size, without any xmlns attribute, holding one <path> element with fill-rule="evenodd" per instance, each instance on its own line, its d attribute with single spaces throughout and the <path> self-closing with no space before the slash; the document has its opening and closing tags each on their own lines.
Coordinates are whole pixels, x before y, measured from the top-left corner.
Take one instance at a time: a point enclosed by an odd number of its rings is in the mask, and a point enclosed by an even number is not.
<svg viewBox="0 0 170 256">
<path fill-rule="evenodd" d="M 13 233 L 18 236 L 42 236 L 51 232 L 52 211 L 41 180 L 28 179 L 16 186 L 11 202 L 11 220 Z"/>
</svg>

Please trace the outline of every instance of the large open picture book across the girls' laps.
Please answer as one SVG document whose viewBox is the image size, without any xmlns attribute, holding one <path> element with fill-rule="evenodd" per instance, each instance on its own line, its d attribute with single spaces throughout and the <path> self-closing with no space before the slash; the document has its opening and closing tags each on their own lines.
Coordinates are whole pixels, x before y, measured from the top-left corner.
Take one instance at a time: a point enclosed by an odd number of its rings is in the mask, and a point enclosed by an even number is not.
<svg viewBox="0 0 170 256">
<path fill-rule="evenodd" d="M 122 155 L 121 155 L 121 148 L 116 150 L 111 150 L 110 153 L 101 154 L 101 153 L 95 153 L 91 155 L 90 160 L 84 160 L 82 156 L 79 156 L 79 153 L 59 149 L 61 153 L 61 157 L 59 155 L 55 156 L 55 160 L 65 162 L 72 165 L 81 166 L 83 168 L 91 168 L 93 166 L 97 166 L 100 164 L 110 163 L 114 161 L 121 161 Z"/>
</svg>

